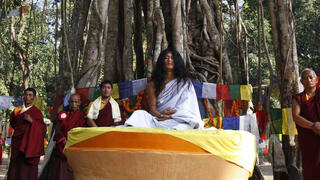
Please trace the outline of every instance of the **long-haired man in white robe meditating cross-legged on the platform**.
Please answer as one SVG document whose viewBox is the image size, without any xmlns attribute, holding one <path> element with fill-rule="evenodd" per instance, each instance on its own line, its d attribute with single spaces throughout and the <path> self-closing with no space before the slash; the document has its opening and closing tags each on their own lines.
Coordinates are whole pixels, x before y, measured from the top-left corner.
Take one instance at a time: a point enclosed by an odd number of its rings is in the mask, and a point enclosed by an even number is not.
<svg viewBox="0 0 320 180">
<path fill-rule="evenodd" d="M 164 129 L 203 128 L 197 96 L 181 55 L 174 49 L 161 52 L 148 83 L 149 113 L 135 111 L 125 126 Z"/>
</svg>

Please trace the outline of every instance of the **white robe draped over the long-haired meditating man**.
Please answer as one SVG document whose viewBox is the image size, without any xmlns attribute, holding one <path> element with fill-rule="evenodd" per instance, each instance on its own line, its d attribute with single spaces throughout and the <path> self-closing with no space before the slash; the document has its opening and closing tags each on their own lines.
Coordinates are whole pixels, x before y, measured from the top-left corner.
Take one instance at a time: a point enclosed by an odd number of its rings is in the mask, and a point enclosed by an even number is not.
<svg viewBox="0 0 320 180">
<path fill-rule="evenodd" d="M 198 108 L 196 92 L 191 81 L 179 83 L 176 79 L 168 82 L 157 97 L 157 110 L 176 109 L 172 119 L 158 121 L 147 111 L 135 111 L 125 122 L 125 126 L 163 129 L 202 129 L 204 126 Z"/>
</svg>

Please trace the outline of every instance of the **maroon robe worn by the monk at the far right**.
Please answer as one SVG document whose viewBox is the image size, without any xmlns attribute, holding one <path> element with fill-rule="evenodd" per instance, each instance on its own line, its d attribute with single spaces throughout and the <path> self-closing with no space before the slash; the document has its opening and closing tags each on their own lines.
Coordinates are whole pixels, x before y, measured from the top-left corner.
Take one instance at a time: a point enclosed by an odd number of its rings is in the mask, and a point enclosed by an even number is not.
<svg viewBox="0 0 320 180">
<path fill-rule="evenodd" d="M 294 96 L 300 105 L 300 116 L 311 122 L 320 121 L 320 90 L 307 101 L 306 93 Z M 320 179 L 320 136 L 311 129 L 297 125 L 299 146 L 302 153 L 304 179 Z"/>
</svg>

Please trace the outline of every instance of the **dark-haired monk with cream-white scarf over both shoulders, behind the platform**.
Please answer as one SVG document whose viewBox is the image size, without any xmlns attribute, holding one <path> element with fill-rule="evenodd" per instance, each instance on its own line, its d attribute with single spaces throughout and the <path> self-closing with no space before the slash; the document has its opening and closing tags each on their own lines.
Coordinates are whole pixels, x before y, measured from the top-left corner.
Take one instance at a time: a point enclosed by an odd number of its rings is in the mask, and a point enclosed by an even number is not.
<svg viewBox="0 0 320 180">
<path fill-rule="evenodd" d="M 100 84 L 101 96 L 90 103 L 87 113 L 90 127 L 116 126 L 121 123 L 119 104 L 111 97 L 113 86 L 108 80 Z"/>
</svg>

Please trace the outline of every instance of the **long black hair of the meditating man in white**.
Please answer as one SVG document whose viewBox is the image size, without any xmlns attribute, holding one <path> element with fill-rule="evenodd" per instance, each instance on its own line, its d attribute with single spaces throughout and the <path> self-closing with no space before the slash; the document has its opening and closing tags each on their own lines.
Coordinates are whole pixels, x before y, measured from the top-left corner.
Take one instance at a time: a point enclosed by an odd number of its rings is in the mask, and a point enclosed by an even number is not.
<svg viewBox="0 0 320 180">
<path fill-rule="evenodd" d="M 173 62 L 174 62 L 174 78 L 177 79 L 178 84 L 183 83 L 188 83 L 190 80 L 190 74 L 187 71 L 187 68 L 183 62 L 183 59 L 180 55 L 180 53 L 173 49 L 173 48 L 168 48 L 163 50 L 157 60 L 156 67 L 152 72 L 151 79 L 154 82 L 155 89 L 156 89 L 156 94 L 158 95 L 161 91 L 161 87 L 164 83 L 165 76 L 166 76 L 166 68 L 165 68 L 165 57 L 167 53 L 172 54 Z"/>
</svg>

